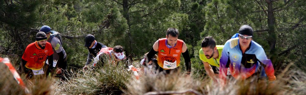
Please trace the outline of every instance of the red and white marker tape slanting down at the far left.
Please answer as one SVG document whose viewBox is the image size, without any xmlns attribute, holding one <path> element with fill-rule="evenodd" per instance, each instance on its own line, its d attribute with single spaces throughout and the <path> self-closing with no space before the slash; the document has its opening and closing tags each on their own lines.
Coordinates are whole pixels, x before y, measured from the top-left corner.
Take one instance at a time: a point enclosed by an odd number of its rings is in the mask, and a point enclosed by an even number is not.
<svg viewBox="0 0 306 95">
<path fill-rule="evenodd" d="M 29 94 L 30 91 L 28 90 L 27 87 L 25 87 L 21 77 L 19 76 L 19 74 L 17 73 L 16 69 L 14 68 L 14 66 L 9 62 L 9 58 L 1 58 L 0 57 L 0 63 L 4 63 L 8 68 L 9 71 L 11 71 L 11 73 L 13 74 L 15 80 L 17 81 L 17 83 L 20 85 L 20 87 L 22 87 L 25 90 L 25 93 Z"/>
</svg>

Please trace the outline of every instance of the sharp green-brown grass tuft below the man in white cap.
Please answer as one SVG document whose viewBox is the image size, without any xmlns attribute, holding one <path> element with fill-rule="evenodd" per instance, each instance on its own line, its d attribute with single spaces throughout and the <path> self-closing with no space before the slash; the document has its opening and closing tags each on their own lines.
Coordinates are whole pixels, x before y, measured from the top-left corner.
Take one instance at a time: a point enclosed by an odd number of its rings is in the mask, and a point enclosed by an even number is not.
<svg viewBox="0 0 306 95">
<path fill-rule="evenodd" d="M 55 94 L 121 95 L 127 89 L 124 82 L 131 75 L 124 62 L 119 62 L 118 66 L 105 64 L 93 70 L 77 70 L 72 73 L 70 80 L 56 87 Z"/>
</svg>

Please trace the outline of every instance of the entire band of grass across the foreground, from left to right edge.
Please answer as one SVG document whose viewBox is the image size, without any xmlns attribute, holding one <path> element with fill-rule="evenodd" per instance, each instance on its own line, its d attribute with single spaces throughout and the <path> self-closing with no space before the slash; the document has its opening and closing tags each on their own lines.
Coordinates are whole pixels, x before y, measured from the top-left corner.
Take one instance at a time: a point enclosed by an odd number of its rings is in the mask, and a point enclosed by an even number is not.
<svg viewBox="0 0 306 95">
<path fill-rule="evenodd" d="M 138 61 L 134 61 L 134 65 Z M 139 65 L 136 65 L 139 68 Z M 9 72 L 6 65 L 0 63 L 0 94 L 25 95 Z M 184 72 L 184 71 L 180 71 Z M 197 72 L 197 71 L 193 71 Z M 32 95 L 304 95 L 306 93 L 306 73 L 302 70 L 291 70 L 289 67 L 277 76 L 274 82 L 267 80 L 229 79 L 225 85 L 214 83 L 209 77 L 199 77 L 199 73 L 185 76 L 185 73 L 172 73 L 156 76 L 140 75 L 137 80 L 132 72 L 127 71 L 124 62 L 118 66 L 105 64 L 93 70 L 70 71 L 67 81 L 50 78 L 24 80 Z M 24 79 L 24 76 L 22 76 Z M 186 92 L 184 92 L 186 91 Z M 189 92 L 187 92 L 189 91 Z"/>
</svg>

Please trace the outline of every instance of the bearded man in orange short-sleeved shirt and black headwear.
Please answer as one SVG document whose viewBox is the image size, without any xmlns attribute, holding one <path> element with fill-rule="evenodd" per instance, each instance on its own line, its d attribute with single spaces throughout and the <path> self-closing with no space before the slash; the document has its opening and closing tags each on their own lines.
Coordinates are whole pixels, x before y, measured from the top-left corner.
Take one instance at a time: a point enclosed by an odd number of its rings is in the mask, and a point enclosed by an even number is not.
<svg viewBox="0 0 306 95">
<path fill-rule="evenodd" d="M 46 60 L 49 60 L 49 66 L 44 67 Z M 34 75 L 43 75 L 47 77 L 53 70 L 53 50 L 47 36 L 44 32 L 36 34 L 36 41 L 30 43 L 25 49 L 19 67 L 19 73 L 25 73 L 27 78 Z"/>
</svg>

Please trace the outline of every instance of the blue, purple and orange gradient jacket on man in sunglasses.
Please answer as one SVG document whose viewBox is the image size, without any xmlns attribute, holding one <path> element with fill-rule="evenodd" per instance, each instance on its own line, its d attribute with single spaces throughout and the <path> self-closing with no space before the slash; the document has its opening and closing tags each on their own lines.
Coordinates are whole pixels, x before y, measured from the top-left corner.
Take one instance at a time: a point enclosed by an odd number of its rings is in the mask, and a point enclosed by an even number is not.
<svg viewBox="0 0 306 95">
<path fill-rule="evenodd" d="M 239 38 L 233 38 L 225 43 L 222 50 L 219 76 L 225 80 L 227 68 L 230 67 L 230 73 L 235 79 L 247 79 L 260 71 L 259 65 L 263 65 L 269 80 L 276 79 L 271 60 L 258 43 L 251 41 L 250 47 L 242 54 Z"/>
</svg>

